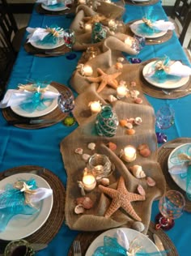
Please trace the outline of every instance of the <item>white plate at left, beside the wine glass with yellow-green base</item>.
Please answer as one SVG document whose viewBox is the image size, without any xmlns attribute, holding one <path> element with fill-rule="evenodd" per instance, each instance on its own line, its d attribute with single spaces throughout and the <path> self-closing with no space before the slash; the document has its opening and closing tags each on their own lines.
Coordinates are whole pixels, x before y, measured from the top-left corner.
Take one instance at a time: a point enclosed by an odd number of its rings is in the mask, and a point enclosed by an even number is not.
<svg viewBox="0 0 191 256">
<path fill-rule="evenodd" d="M 57 89 L 51 85 L 48 85 L 48 90 L 51 92 L 57 92 Z M 45 105 L 46 108 L 43 110 L 35 110 L 32 113 L 28 113 L 27 111 L 24 111 L 23 109 L 21 109 L 19 106 L 12 106 L 11 109 L 13 112 L 15 112 L 16 114 L 18 114 L 21 117 L 42 117 L 45 116 L 46 114 L 52 112 L 54 109 L 57 108 L 57 97 L 55 99 L 53 99 L 52 101 L 45 101 Z"/>
</svg>

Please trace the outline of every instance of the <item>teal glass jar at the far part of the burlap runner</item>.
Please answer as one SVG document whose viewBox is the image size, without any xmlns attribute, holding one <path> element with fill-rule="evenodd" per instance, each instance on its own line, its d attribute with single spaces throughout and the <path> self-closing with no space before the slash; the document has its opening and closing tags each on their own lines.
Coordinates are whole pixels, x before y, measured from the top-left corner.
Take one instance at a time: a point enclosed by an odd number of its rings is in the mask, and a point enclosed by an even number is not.
<svg viewBox="0 0 191 256">
<path fill-rule="evenodd" d="M 107 30 L 102 23 L 95 23 L 91 33 L 91 42 L 93 44 L 99 43 L 107 36 Z"/>
</svg>

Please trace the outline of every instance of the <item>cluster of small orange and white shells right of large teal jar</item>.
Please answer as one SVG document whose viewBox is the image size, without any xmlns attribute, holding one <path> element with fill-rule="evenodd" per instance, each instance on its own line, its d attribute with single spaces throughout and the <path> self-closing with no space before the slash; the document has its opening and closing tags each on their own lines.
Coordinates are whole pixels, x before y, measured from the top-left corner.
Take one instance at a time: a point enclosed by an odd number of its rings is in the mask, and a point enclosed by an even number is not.
<svg viewBox="0 0 191 256">
<path fill-rule="evenodd" d="M 126 119 L 121 119 L 119 121 L 120 125 L 122 127 L 126 127 L 126 134 L 133 135 L 135 134 L 134 125 L 140 126 L 142 124 L 142 118 L 141 117 L 130 117 Z"/>
</svg>

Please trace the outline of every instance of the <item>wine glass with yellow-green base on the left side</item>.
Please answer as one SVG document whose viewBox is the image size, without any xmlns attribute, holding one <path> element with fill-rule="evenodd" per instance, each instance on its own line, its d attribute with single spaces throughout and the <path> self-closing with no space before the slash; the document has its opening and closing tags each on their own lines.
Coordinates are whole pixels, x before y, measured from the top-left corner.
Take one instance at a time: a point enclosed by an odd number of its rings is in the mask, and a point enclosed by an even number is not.
<svg viewBox="0 0 191 256">
<path fill-rule="evenodd" d="M 68 113 L 69 115 L 64 119 L 63 124 L 65 126 L 73 126 L 75 123 L 75 118 L 72 115 L 72 110 L 74 109 L 74 95 L 68 89 L 66 91 L 60 92 L 57 97 L 58 108 L 61 109 L 62 113 Z"/>
</svg>

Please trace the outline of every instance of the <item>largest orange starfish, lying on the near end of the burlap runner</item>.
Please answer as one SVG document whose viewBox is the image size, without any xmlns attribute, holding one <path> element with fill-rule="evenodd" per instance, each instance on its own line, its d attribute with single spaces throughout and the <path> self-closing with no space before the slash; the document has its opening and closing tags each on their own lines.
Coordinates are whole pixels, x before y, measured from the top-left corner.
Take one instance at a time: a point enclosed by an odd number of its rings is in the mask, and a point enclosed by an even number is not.
<svg viewBox="0 0 191 256">
<path fill-rule="evenodd" d="M 113 190 L 111 188 L 100 185 L 100 190 L 105 194 L 108 194 L 109 197 L 112 198 L 112 203 L 108 207 L 108 210 L 105 212 L 104 217 L 110 217 L 115 211 L 117 211 L 120 207 L 122 207 L 134 220 L 142 221 L 142 219 L 137 215 L 134 211 L 130 202 L 134 201 L 143 201 L 145 200 L 145 196 L 141 194 L 130 193 L 125 187 L 124 177 L 120 177 L 117 190 Z"/>
</svg>

